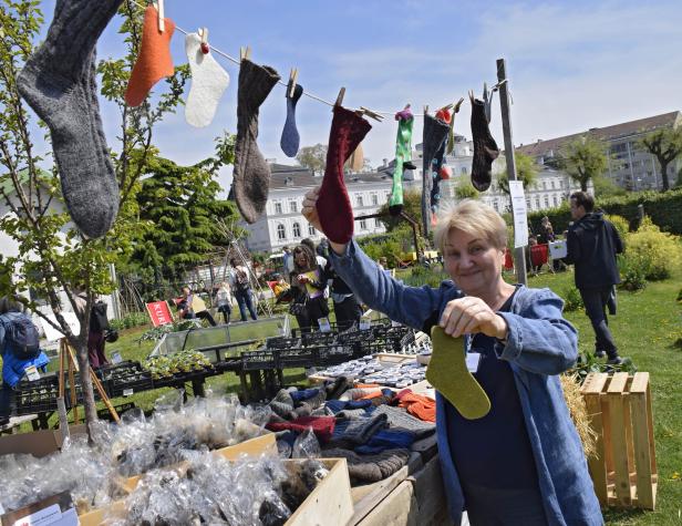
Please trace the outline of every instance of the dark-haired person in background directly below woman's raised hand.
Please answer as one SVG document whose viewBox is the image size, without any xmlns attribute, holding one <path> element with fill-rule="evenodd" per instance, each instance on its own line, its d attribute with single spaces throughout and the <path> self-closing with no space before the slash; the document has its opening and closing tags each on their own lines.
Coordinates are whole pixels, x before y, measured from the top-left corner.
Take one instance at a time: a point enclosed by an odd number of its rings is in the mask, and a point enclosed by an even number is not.
<svg viewBox="0 0 682 526">
<path fill-rule="evenodd" d="M 323 267 L 318 265 L 314 254 L 307 245 L 301 244 L 293 249 L 291 283 L 296 290 L 290 312 L 296 316 L 301 331 L 319 328 L 318 320 L 329 316 L 329 306 L 324 298 L 327 281 Z"/>
</svg>

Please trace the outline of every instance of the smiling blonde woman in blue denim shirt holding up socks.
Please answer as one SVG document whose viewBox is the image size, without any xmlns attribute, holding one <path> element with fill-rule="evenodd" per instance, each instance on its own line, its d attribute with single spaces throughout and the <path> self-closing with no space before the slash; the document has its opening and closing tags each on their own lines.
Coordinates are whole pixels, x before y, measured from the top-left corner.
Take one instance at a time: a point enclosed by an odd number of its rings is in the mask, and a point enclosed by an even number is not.
<svg viewBox="0 0 682 526">
<path fill-rule="evenodd" d="M 319 189 L 303 215 L 318 229 Z M 428 331 L 440 324 L 479 353 L 476 380 L 490 412 L 464 419 L 436 393 L 436 431 L 450 512 L 472 525 L 601 525 L 582 444 L 558 374 L 577 358 L 577 331 L 549 289 L 502 278 L 507 227 L 487 205 L 467 200 L 438 218 L 435 243 L 452 280 L 406 287 L 382 272 L 354 240 L 330 240 L 337 272 L 363 302 Z M 456 285 L 455 285 L 456 283 Z"/>
</svg>

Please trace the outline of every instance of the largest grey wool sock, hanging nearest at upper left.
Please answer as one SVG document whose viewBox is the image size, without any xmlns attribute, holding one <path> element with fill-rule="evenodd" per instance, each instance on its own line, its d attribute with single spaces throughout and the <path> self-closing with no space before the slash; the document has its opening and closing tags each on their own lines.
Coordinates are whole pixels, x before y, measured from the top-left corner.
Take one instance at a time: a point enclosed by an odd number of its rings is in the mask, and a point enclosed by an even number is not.
<svg viewBox="0 0 682 526">
<path fill-rule="evenodd" d="M 60 0 L 45 41 L 19 74 L 21 96 L 52 137 L 62 195 L 71 218 L 101 237 L 118 213 L 118 184 L 97 103 L 95 45 L 122 0 Z"/>
</svg>

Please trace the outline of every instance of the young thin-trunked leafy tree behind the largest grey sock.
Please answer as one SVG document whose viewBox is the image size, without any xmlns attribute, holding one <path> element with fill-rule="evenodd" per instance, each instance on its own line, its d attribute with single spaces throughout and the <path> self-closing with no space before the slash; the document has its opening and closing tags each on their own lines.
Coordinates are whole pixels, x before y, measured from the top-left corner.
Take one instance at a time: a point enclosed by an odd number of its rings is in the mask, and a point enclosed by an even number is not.
<svg viewBox="0 0 682 526">
<path fill-rule="evenodd" d="M 0 3 L 0 197 L 10 214 L 0 218 L 0 229 L 13 238 L 19 255 L 6 259 L 4 265 L 21 277 L 6 285 L 0 293 L 19 296 L 31 289 L 38 297 L 45 298 L 56 322 L 39 310 L 34 298 L 20 297 L 46 323 L 65 334 L 68 342 L 76 350 L 79 367 L 89 370 L 87 327 L 90 310 L 95 295 L 113 289 L 110 264 L 125 258 L 132 248 L 132 235 L 136 228 L 137 206 L 134 198 L 140 188 L 140 176 L 144 173 L 151 155 L 153 128 L 164 116 L 176 110 L 189 75 L 186 65 L 176 68 L 175 74 L 165 81 L 167 92 L 152 105 L 148 100 L 140 107 L 128 107 L 123 94 L 131 70 L 137 58 L 142 34 L 144 7 L 124 2 L 121 33 L 125 34 L 126 53 L 123 59 L 104 60 L 97 65 L 102 76 L 102 95 L 114 102 L 121 115 L 118 140 L 120 152 L 112 154 L 121 190 L 118 216 L 112 230 L 100 239 L 85 239 L 70 221 L 61 204 L 61 187 L 56 167 L 52 165 L 46 175 L 41 165 L 49 167 L 50 159 L 35 153 L 35 126 L 45 130 L 27 110 L 17 91 L 17 76 L 33 51 L 39 37 L 43 16 L 39 2 L 33 0 L 3 0 Z M 49 134 L 44 140 L 50 141 Z M 75 292 L 82 288 L 87 298 L 84 311 L 75 303 Z M 76 311 L 83 330 L 73 334 L 62 312 L 60 291 Z M 85 420 L 92 424 L 97 419 L 93 388 L 89 374 L 81 374 Z M 91 426 L 89 425 L 89 432 Z"/>
</svg>

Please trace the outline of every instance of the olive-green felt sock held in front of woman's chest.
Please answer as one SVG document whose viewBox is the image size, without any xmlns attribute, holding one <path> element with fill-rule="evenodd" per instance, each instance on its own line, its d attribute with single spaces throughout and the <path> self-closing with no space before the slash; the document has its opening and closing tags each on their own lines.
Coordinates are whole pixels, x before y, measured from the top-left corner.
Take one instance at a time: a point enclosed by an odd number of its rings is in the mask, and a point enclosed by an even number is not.
<svg viewBox="0 0 682 526">
<path fill-rule="evenodd" d="M 464 338 L 447 336 L 438 326 L 431 329 L 433 354 L 426 380 L 455 406 L 462 416 L 476 420 L 490 411 L 490 400 L 466 369 Z"/>
</svg>

